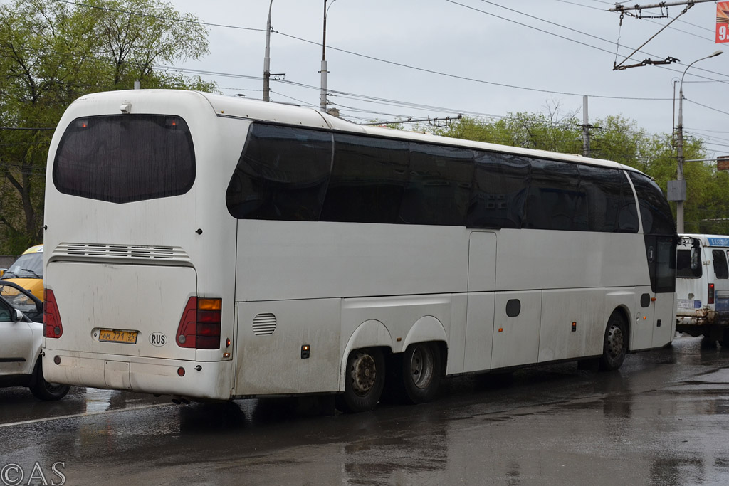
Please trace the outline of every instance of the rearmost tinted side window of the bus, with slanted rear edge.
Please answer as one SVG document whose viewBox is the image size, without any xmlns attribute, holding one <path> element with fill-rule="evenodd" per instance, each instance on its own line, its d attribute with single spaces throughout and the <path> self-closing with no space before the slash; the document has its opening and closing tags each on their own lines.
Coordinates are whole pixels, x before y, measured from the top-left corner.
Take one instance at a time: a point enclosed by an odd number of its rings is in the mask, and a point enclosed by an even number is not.
<svg viewBox="0 0 729 486">
<path fill-rule="evenodd" d="M 316 221 L 332 167 L 332 135 L 252 124 L 225 202 L 235 218 Z"/>
</svg>

